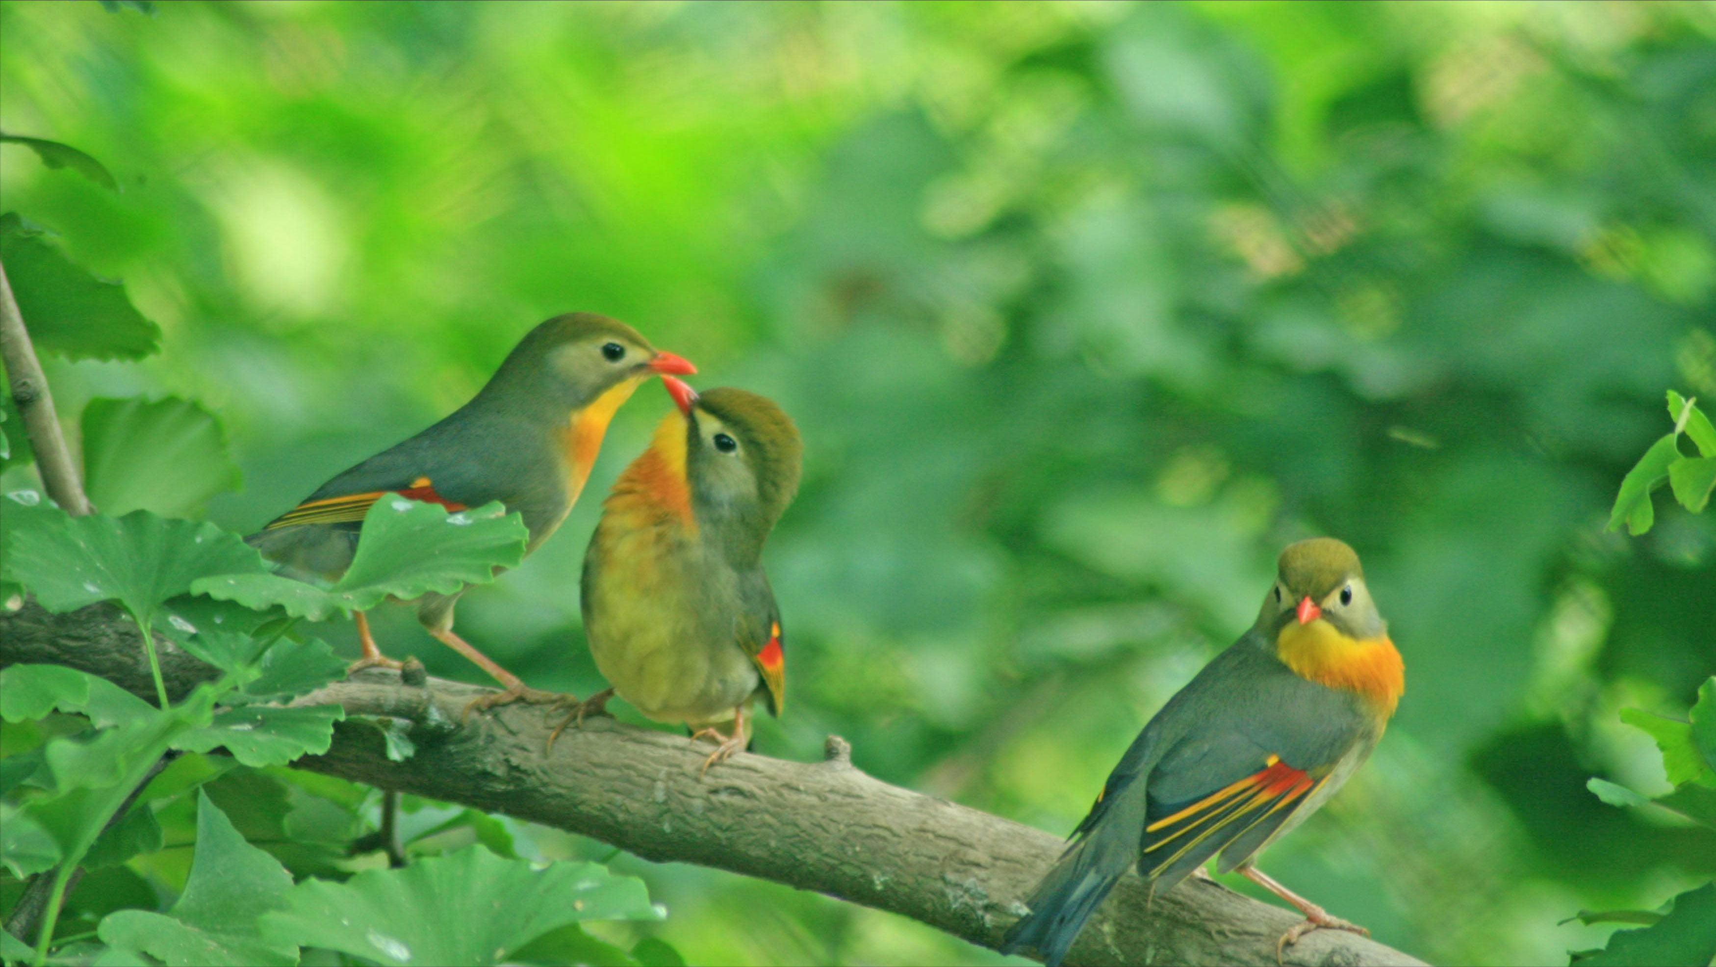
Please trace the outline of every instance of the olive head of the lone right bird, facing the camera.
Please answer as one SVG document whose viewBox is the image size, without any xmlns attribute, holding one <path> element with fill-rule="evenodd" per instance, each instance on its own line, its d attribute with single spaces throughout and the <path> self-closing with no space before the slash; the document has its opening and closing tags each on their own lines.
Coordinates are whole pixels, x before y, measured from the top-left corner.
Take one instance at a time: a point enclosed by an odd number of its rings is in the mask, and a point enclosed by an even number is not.
<svg viewBox="0 0 1716 967">
<path fill-rule="evenodd" d="M 1287 544 L 1275 584 L 1263 596 L 1258 629 L 1270 641 L 1290 623 L 1328 622 L 1349 637 L 1376 637 L 1387 630 L 1364 586 L 1359 555 L 1335 538 Z"/>
</svg>

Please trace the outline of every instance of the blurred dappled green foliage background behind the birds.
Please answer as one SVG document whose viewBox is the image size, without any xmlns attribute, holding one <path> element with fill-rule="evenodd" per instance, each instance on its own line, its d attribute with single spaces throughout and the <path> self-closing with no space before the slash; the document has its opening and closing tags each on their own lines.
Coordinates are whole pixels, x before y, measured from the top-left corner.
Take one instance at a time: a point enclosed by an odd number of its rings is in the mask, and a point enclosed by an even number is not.
<svg viewBox="0 0 1716 967">
<path fill-rule="evenodd" d="M 142 364 L 50 359 L 62 414 L 209 405 L 244 469 L 223 526 L 601 311 L 803 429 L 767 553 L 791 702 L 760 752 L 836 732 L 889 782 L 1064 833 L 1278 548 L 1326 532 L 1364 555 L 1407 696 L 1266 869 L 1429 960 L 1541 964 L 1601 943 L 1556 926 L 1577 909 L 1716 867 L 1584 788 L 1666 790 L 1616 713 L 1683 713 L 1716 668 L 1711 515 L 1603 531 L 1663 392 L 1716 400 L 1709 5 L 9 2 L 0 38 L 0 124 L 124 185 L 9 146 L 0 206 L 165 330 Z M 578 562 L 666 409 L 640 390 L 561 534 L 460 606 L 535 685 L 601 687 Z M 390 651 L 480 677 L 391 611 Z M 692 962 L 1000 960 L 613 866 L 669 917 L 609 934 Z"/>
</svg>

